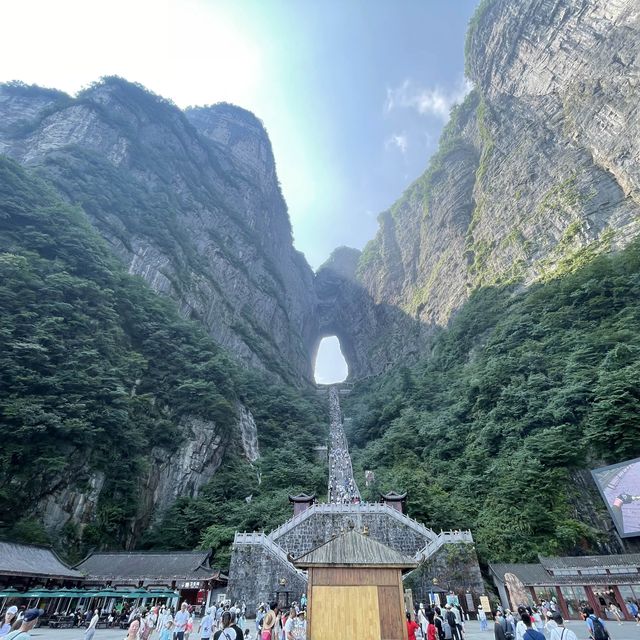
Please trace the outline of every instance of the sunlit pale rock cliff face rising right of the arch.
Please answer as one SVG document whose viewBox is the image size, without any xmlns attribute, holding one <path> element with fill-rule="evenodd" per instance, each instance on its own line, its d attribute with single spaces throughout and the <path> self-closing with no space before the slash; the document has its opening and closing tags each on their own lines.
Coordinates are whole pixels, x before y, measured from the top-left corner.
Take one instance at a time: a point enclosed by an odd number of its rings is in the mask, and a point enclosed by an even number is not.
<svg viewBox="0 0 640 640">
<path fill-rule="evenodd" d="M 424 349 L 474 289 L 571 270 L 639 231 L 637 4 L 485 0 L 467 48 L 475 90 L 357 266 L 369 308 L 393 317 L 336 328 L 371 372 Z M 402 348 L 380 354 L 380 334 Z"/>
</svg>

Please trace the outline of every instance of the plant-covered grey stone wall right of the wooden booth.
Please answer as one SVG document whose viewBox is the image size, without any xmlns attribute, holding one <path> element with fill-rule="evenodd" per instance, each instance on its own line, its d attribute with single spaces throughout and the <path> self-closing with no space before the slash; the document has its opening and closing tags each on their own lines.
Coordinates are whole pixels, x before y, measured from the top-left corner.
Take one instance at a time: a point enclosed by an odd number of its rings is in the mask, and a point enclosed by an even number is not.
<svg viewBox="0 0 640 640">
<path fill-rule="evenodd" d="M 439 588 L 458 595 L 465 610 L 467 592 L 471 593 L 474 606 L 479 604 L 480 596 L 485 594 L 478 556 L 473 544 L 445 544 L 420 563 L 417 569 L 406 575 L 404 586 L 405 589 L 411 589 L 414 602 L 429 601 L 434 578 Z"/>
</svg>

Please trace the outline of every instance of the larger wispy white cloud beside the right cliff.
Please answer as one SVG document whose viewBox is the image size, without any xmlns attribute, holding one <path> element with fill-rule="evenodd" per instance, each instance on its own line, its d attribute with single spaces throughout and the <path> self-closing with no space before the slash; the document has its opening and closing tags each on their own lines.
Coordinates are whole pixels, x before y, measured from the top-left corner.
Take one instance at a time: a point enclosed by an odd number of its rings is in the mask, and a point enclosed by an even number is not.
<svg viewBox="0 0 640 640">
<path fill-rule="evenodd" d="M 471 88 L 472 84 L 466 78 L 451 89 L 420 87 L 407 78 L 395 89 L 387 87 L 384 110 L 389 113 L 394 109 L 415 109 L 421 115 L 432 115 L 446 121 L 451 107 L 462 102 Z"/>
</svg>

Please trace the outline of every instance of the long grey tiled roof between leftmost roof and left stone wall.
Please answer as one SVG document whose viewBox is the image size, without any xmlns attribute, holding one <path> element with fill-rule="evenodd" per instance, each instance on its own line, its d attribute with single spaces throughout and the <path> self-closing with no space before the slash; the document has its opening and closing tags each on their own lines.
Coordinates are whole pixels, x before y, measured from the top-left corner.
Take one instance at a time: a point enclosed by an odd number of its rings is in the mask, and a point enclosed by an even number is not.
<svg viewBox="0 0 640 640">
<path fill-rule="evenodd" d="M 98 580 L 225 579 L 211 569 L 211 551 L 119 551 L 92 553 L 76 569 Z"/>
</svg>

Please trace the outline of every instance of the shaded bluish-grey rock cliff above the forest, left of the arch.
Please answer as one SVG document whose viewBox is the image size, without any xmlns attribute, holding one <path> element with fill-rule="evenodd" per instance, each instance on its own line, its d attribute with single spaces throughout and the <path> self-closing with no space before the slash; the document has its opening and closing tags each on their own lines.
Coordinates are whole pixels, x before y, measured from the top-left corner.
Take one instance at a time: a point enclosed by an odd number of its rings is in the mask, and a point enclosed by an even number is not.
<svg viewBox="0 0 640 640">
<path fill-rule="evenodd" d="M 120 79 L 72 99 L 0 88 L 0 153 L 82 206 L 113 250 L 241 361 L 311 379 L 313 274 L 271 145 L 231 105 L 190 109 Z"/>
</svg>

